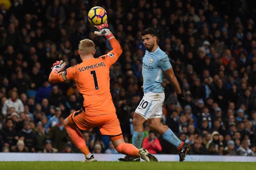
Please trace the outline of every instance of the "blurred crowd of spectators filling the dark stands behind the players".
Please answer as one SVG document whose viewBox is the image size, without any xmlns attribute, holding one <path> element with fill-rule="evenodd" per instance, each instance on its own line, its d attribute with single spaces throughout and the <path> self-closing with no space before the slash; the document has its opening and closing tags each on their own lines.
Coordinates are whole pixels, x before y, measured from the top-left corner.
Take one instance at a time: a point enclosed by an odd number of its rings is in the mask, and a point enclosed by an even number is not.
<svg viewBox="0 0 256 170">
<path fill-rule="evenodd" d="M 56 60 L 81 62 L 79 41 L 111 50 L 94 35 L 87 12 L 102 6 L 123 54 L 110 69 L 111 94 L 126 142 L 143 91 L 143 29 L 156 30 L 186 102 L 179 104 L 164 79 L 162 123 L 191 154 L 256 154 L 256 1 L 254 0 L 0 0 L 0 151 L 79 152 L 63 120 L 82 107 L 73 81 L 50 84 Z M 175 154 L 144 124 L 143 147 Z M 116 153 L 99 129 L 82 132 L 92 153 Z"/>
</svg>

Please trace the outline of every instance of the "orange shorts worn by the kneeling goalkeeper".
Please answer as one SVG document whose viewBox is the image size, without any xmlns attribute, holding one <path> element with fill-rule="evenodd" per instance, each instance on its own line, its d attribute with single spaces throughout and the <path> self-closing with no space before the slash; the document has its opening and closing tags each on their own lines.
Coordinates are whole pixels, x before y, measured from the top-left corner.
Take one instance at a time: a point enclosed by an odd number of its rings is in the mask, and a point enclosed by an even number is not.
<svg viewBox="0 0 256 170">
<path fill-rule="evenodd" d="M 74 112 L 68 117 L 70 125 L 76 125 L 77 128 L 88 131 L 91 128 L 99 127 L 101 135 L 119 136 L 122 135 L 120 123 L 116 113 L 105 115 L 87 115 L 83 109 Z"/>
</svg>

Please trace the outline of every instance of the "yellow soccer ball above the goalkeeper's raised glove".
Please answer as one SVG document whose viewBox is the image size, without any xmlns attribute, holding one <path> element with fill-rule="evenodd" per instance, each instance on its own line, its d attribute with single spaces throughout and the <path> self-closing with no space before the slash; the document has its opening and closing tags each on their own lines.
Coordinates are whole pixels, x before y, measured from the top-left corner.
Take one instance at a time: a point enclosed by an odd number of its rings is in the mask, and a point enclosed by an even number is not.
<svg viewBox="0 0 256 170">
<path fill-rule="evenodd" d="M 106 19 L 106 11 L 100 6 L 95 6 L 91 8 L 88 13 L 88 20 L 93 25 L 103 24 L 106 21 Z"/>
</svg>

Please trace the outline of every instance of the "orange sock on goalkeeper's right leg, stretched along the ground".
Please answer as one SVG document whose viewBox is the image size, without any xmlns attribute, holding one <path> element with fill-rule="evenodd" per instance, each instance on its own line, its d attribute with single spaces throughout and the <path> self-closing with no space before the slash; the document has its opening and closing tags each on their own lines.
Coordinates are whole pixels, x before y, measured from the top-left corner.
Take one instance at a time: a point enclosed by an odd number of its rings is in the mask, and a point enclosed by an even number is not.
<svg viewBox="0 0 256 170">
<path fill-rule="evenodd" d="M 116 150 L 119 153 L 122 153 L 125 155 L 140 157 L 139 149 L 137 149 L 136 147 L 134 147 L 134 145 L 130 143 L 123 142 L 116 147 Z"/>
</svg>

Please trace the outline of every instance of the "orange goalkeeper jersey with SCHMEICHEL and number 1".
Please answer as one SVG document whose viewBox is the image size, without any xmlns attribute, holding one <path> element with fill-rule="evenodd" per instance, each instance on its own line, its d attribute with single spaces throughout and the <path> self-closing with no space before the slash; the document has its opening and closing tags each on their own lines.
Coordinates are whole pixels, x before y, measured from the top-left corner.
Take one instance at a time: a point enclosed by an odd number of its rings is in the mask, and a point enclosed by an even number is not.
<svg viewBox="0 0 256 170">
<path fill-rule="evenodd" d="M 110 39 L 113 48 L 101 58 L 83 60 L 82 63 L 58 73 L 61 82 L 74 80 L 84 97 L 86 114 L 110 114 L 115 106 L 110 93 L 109 68 L 122 54 L 122 48 L 115 38 Z"/>
</svg>

